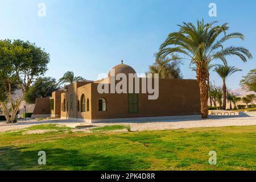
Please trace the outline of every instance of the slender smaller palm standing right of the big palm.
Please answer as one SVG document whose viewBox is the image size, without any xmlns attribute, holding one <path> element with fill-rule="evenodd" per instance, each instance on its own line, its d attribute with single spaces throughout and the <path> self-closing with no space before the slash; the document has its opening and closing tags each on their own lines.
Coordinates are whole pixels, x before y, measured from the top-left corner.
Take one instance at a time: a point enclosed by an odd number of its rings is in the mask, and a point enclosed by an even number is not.
<svg viewBox="0 0 256 182">
<path fill-rule="evenodd" d="M 221 77 L 223 86 L 223 106 L 222 109 L 226 110 L 226 78 L 232 75 L 235 72 L 242 71 L 242 69 L 238 69 L 235 67 L 230 67 L 228 65 L 218 65 L 216 68 L 213 70 L 214 72 L 218 73 L 218 75 Z"/>
</svg>

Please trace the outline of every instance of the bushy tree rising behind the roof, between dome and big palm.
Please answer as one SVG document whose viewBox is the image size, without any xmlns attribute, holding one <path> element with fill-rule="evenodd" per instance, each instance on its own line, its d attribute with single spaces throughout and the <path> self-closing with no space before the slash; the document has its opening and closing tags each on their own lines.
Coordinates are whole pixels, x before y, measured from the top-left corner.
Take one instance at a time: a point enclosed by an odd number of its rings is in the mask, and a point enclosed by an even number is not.
<svg viewBox="0 0 256 182">
<path fill-rule="evenodd" d="M 171 60 L 174 60 L 170 63 Z M 182 79 L 180 71 L 181 61 L 176 59 L 175 56 L 171 58 L 159 57 L 155 60 L 155 63 L 150 65 L 149 71 L 146 74 L 159 73 L 159 78 L 171 78 L 171 79 Z"/>
</svg>

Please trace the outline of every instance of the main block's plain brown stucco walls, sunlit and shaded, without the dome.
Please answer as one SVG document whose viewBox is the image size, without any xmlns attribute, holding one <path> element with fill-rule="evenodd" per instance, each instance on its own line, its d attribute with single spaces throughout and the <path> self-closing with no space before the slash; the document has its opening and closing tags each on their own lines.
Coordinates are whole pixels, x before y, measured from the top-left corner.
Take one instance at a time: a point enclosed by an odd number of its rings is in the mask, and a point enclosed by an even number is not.
<svg viewBox="0 0 256 182">
<path fill-rule="evenodd" d="M 61 103 L 64 98 L 68 103 L 68 113 L 61 109 L 61 118 L 69 119 L 112 119 L 112 118 L 138 118 L 163 117 L 172 115 L 200 114 L 199 84 L 196 80 L 159 79 L 159 98 L 148 100 L 148 94 L 139 94 L 139 113 L 128 112 L 127 94 L 100 94 L 98 83 L 76 82 L 68 85 L 68 92 L 61 93 Z M 73 110 L 70 107 L 70 98 L 73 93 Z M 81 96 L 89 99 L 89 111 L 81 113 Z M 98 111 L 98 100 L 105 98 L 107 111 Z M 77 111 L 77 101 L 80 109 Z"/>
</svg>

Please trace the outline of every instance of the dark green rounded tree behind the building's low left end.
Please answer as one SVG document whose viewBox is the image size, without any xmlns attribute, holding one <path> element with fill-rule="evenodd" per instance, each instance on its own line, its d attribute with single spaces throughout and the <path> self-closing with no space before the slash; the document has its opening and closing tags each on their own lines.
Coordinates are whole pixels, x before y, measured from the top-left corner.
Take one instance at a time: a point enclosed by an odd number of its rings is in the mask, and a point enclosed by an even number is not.
<svg viewBox="0 0 256 182">
<path fill-rule="evenodd" d="M 56 79 L 52 77 L 39 77 L 28 89 L 25 101 L 28 104 L 34 104 L 38 97 L 49 97 L 52 92 L 59 89 Z"/>
</svg>

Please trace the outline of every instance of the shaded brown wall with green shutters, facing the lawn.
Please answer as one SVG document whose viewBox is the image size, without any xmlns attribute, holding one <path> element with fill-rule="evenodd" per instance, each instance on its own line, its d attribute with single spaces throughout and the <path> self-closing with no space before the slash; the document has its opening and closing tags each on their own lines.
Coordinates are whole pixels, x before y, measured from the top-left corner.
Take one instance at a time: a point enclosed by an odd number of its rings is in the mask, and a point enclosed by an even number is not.
<svg viewBox="0 0 256 182">
<path fill-rule="evenodd" d="M 160 117 L 200 114 L 199 84 L 196 80 L 159 79 L 159 98 L 139 94 L 139 113 L 128 113 L 127 94 L 99 94 L 92 84 L 92 119 Z M 98 111 L 98 99 L 107 100 L 108 111 Z"/>
</svg>

